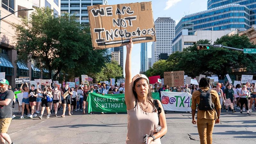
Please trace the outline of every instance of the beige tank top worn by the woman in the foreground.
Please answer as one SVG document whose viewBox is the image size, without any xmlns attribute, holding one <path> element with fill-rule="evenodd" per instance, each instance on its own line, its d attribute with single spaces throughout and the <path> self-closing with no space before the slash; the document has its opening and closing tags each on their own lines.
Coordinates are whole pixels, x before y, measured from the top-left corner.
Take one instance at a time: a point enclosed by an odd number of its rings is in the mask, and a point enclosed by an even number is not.
<svg viewBox="0 0 256 144">
<path fill-rule="evenodd" d="M 144 135 L 155 134 L 154 130 L 158 125 L 157 112 L 144 112 L 137 103 L 135 108 L 127 110 L 127 114 L 128 132 L 126 144 L 142 144 Z M 161 144 L 160 138 L 152 141 L 152 144 Z"/>
</svg>

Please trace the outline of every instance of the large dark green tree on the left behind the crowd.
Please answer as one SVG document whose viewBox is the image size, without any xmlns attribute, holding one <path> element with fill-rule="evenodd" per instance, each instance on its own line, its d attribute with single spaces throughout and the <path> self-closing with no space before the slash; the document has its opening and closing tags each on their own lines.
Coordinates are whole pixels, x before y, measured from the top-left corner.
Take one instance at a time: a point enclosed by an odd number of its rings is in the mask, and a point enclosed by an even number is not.
<svg viewBox="0 0 256 144">
<path fill-rule="evenodd" d="M 36 9 L 30 18 L 14 24 L 18 60 L 36 59 L 36 66 L 48 69 L 50 78 L 56 70 L 53 80 L 61 71 L 69 75 L 78 69 L 89 73 L 104 65 L 103 50 L 93 51 L 88 28 L 82 27 L 75 16 L 58 17 L 47 7 Z"/>
</svg>

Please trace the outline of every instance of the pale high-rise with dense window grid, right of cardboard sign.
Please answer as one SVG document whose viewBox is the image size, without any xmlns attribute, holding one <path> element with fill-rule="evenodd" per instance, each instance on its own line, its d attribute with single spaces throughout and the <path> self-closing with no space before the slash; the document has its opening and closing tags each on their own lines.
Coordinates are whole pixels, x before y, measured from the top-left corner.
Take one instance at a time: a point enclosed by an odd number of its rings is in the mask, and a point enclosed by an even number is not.
<svg viewBox="0 0 256 144">
<path fill-rule="evenodd" d="M 175 36 L 175 21 L 170 17 L 159 17 L 155 21 L 156 42 L 153 42 L 152 64 L 158 61 L 160 53 L 172 54 L 172 39 Z"/>
</svg>

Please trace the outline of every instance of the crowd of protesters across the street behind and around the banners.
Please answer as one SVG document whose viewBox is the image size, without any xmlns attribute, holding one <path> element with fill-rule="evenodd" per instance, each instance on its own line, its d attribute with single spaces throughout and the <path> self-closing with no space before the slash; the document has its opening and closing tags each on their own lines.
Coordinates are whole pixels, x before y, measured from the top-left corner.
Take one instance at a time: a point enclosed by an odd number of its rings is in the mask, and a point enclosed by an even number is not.
<svg viewBox="0 0 256 144">
<path fill-rule="evenodd" d="M 193 94 L 196 90 L 199 89 L 198 85 L 195 84 L 185 84 L 185 86 L 177 86 L 177 87 L 169 87 L 167 84 L 150 84 L 151 92 L 159 92 L 161 97 L 161 91 L 165 92 L 188 92 Z M 220 104 L 223 109 L 226 109 L 226 112 L 231 111 L 232 113 L 236 112 L 236 110 L 240 110 L 242 114 L 245 112 L 247 115 L 251 115 L 250 112 L 256 110 L 256 92 L 254 91 L 254 83 L 250 84 L 247 82 L 245 85 L 237 84 L 223 84 L 217 83 L 212 84 L 211 88 L 217 91 Z M 11 86 L 9 86 L 9 90 L 12 90 Z M 22 104 L 19 105 L 19 101 L 17 99 L 17 94 L 15 92 L 21 92 L 23 95 Z M 68 92 L 67 97 L 63 97 L 65 92 Z M 89 93 L 99 93 L 102 95 L 105 94 L 122 94 L 125 93 L 125 85 L 121 83 L 119 85 L 112 84 L 110 79 L 110 84 L 107 85 L 104 82 L 98 84 L 88 84 L 81 85 L 80 87 L 69 87 L 68 83 L 65 83 L 64 87 L 57 86 L 43 86 L 43 91 L 37 85 L 37 89 L 35 89 L 35 85 L 21 84 L 20 88 L 15 87 L 13 92 L 16 97 L 16 103 L 18 104 L 18 113 L 16 115 L 21 115 L 20 118 L 24 118 L 27 116 L 29 118 L 36 117 L 38 114 L 38 118 L 42 119 L 44 110 L 46 109 L 46 118 L 49 118 L 51 114 L 54 116 L 58 116 L 57 112 L 62 112 L 61 117 L 65 117 L 66 107 L 68 105 L 68 115 L 71 116 L 74 112 L 81 112 L 82 114 L 86 114 L 86 107 L 88 106 L 87 97 Z M 52 97 L 52 102 L 47 102 L 46 97 Z M 225 101 L 230 99 L 231 105 L 225 106 Z M 14 110 L 14 102 L 12 104 L 12 108 Z M 41 112 L 40 112 L 41 109 Z M 167 111 L 165 111 L 167 113 Z M 188 111 L 187 113 L 191 113 Z M 94 112 L 90 112 L 89 114 L 94 114 Z M 104 112 L 101 112 L 104 114 Z M 117 113 L 116 113 L 117 114 Z M 13 113 L 12 118 L 15 117 Z"/>
</svg>

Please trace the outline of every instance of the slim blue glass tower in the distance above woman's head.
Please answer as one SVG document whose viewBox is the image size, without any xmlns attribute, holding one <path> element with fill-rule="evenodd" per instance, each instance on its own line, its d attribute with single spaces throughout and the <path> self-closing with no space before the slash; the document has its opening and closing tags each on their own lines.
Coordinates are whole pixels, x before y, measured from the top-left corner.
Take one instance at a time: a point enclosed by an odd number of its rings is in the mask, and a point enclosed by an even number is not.
<svg viewBox="0 0 256 144">
<path fill-rule="evenodd" d="M 148 44 L 140 43 L 140 72 L 148 70 Z"/>
</svg>

